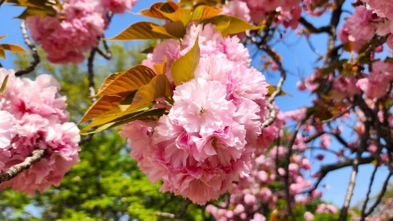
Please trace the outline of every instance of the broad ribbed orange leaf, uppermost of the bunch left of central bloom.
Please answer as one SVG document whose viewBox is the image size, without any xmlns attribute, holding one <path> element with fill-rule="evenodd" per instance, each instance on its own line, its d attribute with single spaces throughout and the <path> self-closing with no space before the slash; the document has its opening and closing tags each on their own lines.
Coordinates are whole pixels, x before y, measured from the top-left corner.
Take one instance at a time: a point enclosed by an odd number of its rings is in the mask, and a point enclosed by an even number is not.
<svg viewBox="0 0 393 221">
<path fill-rule="evenodd" d="M 138 90 L 143 85 L 150 83 L 156 76 L 153 70 L 144 65 L 137 65 L 122 72 L 115 79 L 104 83 L 97 95 L 117 94 L 121 92 Z M 111 78 L 111 76 L 109 77 Z"/>
</svg>

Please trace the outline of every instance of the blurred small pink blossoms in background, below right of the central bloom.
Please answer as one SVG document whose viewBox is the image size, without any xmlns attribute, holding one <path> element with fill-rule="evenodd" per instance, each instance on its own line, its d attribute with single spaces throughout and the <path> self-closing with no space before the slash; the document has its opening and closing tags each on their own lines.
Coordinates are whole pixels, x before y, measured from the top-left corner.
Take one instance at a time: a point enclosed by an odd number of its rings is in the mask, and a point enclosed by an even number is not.
<svg viewBox="0 0 393 221">
<path fill-rule="evenodd" d="M 279 114 L 275 123 L 283 125 L 285 124 L 285 115 L 291 118 L 298 114 L 295 111 Z M 282 133 L 279 136 L 282 136 Z M 311 182 L 302 175 L 311 169 L 311 163 L 309 159 L 300 155 L 304 152 L 304 148 L 301 148 L 304 145 L 300 143 L 297 142 L 294 148 L 297 151 L 291 156 L 288 166 L 289 191 L 293 200 L 291 204 L 311 204 L 314 199 L 322 197 L 322 192 L 314 190 L 309 195 L 303 194 L 312 186 Z M 324 143 L 327 147 L 330 145 L 330 140 L 329 138 L 324 138 L 321 139 L 321 143 Z M 265 144 L 262 141 L 260 145 L 256 144 L 256 148 L 264 149 Z M 221 202 L 218 206 L 209 204 L 206 207 L 206 211 L 212 214 L 218 221 L 265 221 L 265 216 L 269 212 L 278 210 L 277 203 L 279 199 L 285 199 L 284 188 L 274 188 L 274 186 L 280 184 L 285 176 L 286 172 L 281 167 L 281 163 L 286 155 L 287 148 L 274 146 L 255 157 L 253 160 L 256 165 L 253 167 L 253 171 L 250 174 L 241 175 L 239 181 L 232 184 L 232 191 L 228 199 Z M 319 204 L 317 209 L 312 212 L 314 214 L 336 214 L 337 207 L 330 204 Z M 285 215 L 286 210 L 282 208 L 278 213 Z M 306 212 L 304 215 L 305 219 L 308 221 L 312 220 L 314 218 L 313 213 Z"/>
</svg>

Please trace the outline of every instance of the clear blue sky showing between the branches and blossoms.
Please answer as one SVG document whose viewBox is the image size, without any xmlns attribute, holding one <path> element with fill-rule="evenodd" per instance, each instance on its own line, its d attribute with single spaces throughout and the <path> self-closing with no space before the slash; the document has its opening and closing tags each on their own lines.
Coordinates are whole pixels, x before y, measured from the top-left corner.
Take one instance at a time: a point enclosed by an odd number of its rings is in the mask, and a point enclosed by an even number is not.
<svg viewBox="0 0 393 221">
<path fill-rule="evenodd" d="M 143 8 L 148 8 L 152 3 L 157 0 L 140 0 L 140 2 L 132 9 L 134 13 L 139 12 Z M 347 1 L 345 7 L 352 11 L 350 2 Z M 17 7 L 12 7 L 8 4 L 4 4 L 0 8 L 0 35 L 7 34 L 5 39 L 1 39 L 0 43 L 12 43 L 19 44 L 27 48 L 24 45 L 21 30 L 19 28 L 20 20 L 13 19 L 13 17 L 19 15 L 22 9 Z M 348 14 L 344 14 L 348 16 Z M 321 18 L 313 19 L 312 22 L 316 26 L 326 25 L 329 22 L 329 15 L 323 16 Z M 124 15 L 115 15 L 112 19 L 112 23 L 109 29 L 106 31 L 106 36 L 111 37 L 119 33 L 124 28 L 127 28 L 130 24 L 137 21 L 149 20 L 143 16 L 137 14 L 126 13 Z M 320 52 L 325 52 L 326 50 L 326 36 L 316 35 L 311 37 L 315 48 Z M 126 43 L 132 44 L 132 43 Z M 311 97 L 307 93 L 299 93 L 296 89 L 296 82 L 299 81 L 300 77 L 307 77 L 312 73 L 314 67 L 316 67 L 315 60 L 317 56 L 309 49 L 307 41 L 303 38 L 299 39 L 296 34 L 292 31 L 287 33 L 287 36 L 283 41 L 275 45 L 275 49 L 282 55 L 282 60 L 284 68 L 288 70 L 288 79 L 284 83 L 283 89 L 285 92 L 291 96 L 282 96 L 277 99 L 277 104 L 282 111 L 295 110 L 297 108 L 303 107 L 310 104 Z M 5 68 L 12 68 L 12 55 L 7 54 L 8 59 L 0 59 L 1 64 Z M 258 66 L 259 56 L 253 61 L 254 66 Z M 266 78 L 272 84 L 275 84 L 278 80 L 277 73 L 264 73 Z M 333 142 L 332 148 L 338 149 L 340 146 L 337 142 Z M 306 153 L 308 156 L 316 156 L 317 152 Z M 312 158 L 311 158 L 312 159 Z M 326 160 L 324 163 L 334 163 L 336 162 L 336 157 L 329 154 L 326 155 Z M 319 162 L 312 160 L 313 171 L 318 170 Z M 357 179 L 357 185 L 355 187 L 355 194 L 352 200 L 352 204 L 358 202 L 359 200 L 365 198 L 365 194 L 368 188 L 368 180 L 371 174 L 372 166 L 360 166 L 360 173 Z M 349 173 L 351 168 L 344 168 L 337 170 L 324 179 L 322 184 L 328 184 L 330 186 L 329 190 L 324 190 L 323 199 L 333 202 L 337 206 L 341 206 L 346 188 L 349 182 Z M 377 173 L 375 178 L 375 183 L 372 193 L 378 193 L 382 183 L 385 179 L 385 174 L 387 174 L 386 168 L 381 168 Z"/>
</svg>

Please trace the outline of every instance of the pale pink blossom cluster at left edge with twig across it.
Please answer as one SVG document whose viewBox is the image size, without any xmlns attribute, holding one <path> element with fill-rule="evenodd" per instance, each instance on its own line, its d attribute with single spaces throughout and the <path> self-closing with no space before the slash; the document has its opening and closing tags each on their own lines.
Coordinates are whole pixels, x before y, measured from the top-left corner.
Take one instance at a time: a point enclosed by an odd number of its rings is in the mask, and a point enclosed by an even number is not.
<svg viewBox="0 0 393 221">
<path fill-rule="evenodd" d="M 13 70 L 0 68 L 0 79 L 8 82 L 0 98 L 0 170 L 23 162 L 36 149 L 44 157 L 0 189 L 34 194 L 59 185 L 64 174 L 79 162 L 79 129 L 68 122 L 60 84 L 49 75 L 35 81 L 17 78 Z"/>
</svg>

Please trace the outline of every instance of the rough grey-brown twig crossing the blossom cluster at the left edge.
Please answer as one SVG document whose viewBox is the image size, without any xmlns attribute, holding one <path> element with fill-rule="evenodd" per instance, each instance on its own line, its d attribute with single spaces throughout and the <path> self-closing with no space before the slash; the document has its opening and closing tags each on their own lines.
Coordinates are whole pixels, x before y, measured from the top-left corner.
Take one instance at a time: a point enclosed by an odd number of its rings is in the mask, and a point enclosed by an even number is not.
<svg viewBox="0 0 393 221">
<path fill-rule="evenodd" d="M 11 180 L 19 173 L 27 170 L 30 166 L 38 163 L 45 155 L 45 150 L 34 150 L 30 157 L 27 157 L 22 163 L 11 166 L 4 172 L 0 173 L 0 183 Z"/>
</svg>

